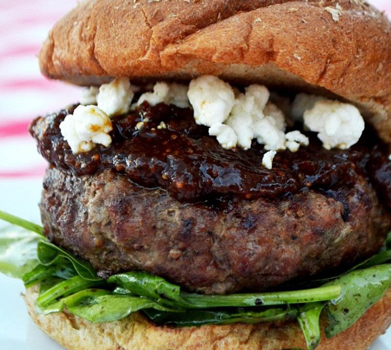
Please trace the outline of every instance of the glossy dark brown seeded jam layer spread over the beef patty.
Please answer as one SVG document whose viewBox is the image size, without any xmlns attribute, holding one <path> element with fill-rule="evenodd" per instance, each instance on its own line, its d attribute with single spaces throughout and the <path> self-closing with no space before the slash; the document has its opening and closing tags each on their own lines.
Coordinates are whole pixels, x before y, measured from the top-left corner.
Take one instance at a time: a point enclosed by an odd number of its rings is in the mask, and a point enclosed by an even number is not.
<svg viewBox="0 0 391 350">
<path fill-rule="evenodd" d="M 224 150 L 206 127 L 195 124 L 191 109 L 144 103 L 133 114 L 112 120 L 109 148 L 97 145 L 91 152 L 74 155 L 59 124 L 75 107 L 37 118 L 30 126 L 43 157 L 75 175 L 111 168 L 141 186 L 163 188 L 188 202 L 214 196 L 277 198 L 308 188 L 338 190 L 354 186 L 364 176 L 387 205 L 391 201 L 391 161 L 373 134 L 363 135 L 350 150 L 327 151 L 310 133 L 308 147 L 278 152 L 268 170 L 262 166 L 262 145 L 254 142 L 248 151 Z M 138 130 L 137 123 L 146 118 L 150 121 Z M 166 128 L 158 128 L 162 121 Z"/>
</svg>

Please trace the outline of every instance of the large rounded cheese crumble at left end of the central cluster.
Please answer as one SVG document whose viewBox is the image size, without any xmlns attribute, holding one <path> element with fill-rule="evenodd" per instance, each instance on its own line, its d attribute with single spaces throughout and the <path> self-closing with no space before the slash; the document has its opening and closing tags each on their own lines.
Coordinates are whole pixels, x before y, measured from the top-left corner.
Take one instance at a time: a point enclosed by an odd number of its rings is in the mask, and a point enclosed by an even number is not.
<svg viewBox="0 0 391 350">
<path fill-rule="evenodd" d="M 202 76 L 190 82 L 187 91 L 197 124 L 222 124 L 235 105 L 233 88 L 215 76 Z"/>
</svg>

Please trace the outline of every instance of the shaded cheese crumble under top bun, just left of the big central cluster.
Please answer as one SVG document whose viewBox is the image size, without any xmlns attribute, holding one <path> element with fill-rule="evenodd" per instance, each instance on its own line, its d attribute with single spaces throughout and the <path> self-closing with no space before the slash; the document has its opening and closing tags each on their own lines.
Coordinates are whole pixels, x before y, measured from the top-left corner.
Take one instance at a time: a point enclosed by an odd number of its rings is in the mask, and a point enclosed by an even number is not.
<svg viewBox="0 0 391 350">
<path fill-rule="evenodd" d="M 180 108 L 187 108 L 190 107 L 187 90 L 188 87 L 186 85 L 159 82 L 154 85 L 152 93 L 141 95 L 137 104 L 140 105 L 144 101 L 147 101 L 151 106 L 155 106 L 163 102 L 165 104 L 173 104 Z"/>
</svg>

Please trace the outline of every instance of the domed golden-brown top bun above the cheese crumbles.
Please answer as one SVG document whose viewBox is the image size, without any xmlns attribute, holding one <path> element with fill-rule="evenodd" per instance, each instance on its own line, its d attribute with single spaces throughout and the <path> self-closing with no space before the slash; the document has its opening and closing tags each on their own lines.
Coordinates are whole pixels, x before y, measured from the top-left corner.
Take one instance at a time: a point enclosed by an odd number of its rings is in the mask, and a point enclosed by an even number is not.
<svg viewBox="0 0 391 350">
<path fill-rule="evenodd" d="M 212 74 L 337 96 L 391 143 L 390 43 L 391 23 L 363 0 L 86 0 L 40 64 L 79 85 Z"/>
</svg>

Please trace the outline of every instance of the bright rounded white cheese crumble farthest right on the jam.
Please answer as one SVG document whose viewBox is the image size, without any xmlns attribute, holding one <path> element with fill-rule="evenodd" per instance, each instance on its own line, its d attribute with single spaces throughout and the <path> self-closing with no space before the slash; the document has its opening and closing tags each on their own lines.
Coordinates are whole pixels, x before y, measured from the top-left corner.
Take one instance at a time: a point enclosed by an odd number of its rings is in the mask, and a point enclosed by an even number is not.
<svg viewBox="0 0 391 350">
<path fill-rule="evenodd" d="M 325 149 L 346 150 L 357 143 L 364 131 L 364 119 L 355 106 L 323 100 L 304 113 L 305 125 L 318 133 Z"/>
</svg>

